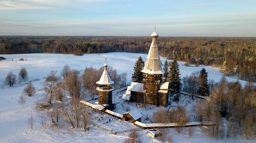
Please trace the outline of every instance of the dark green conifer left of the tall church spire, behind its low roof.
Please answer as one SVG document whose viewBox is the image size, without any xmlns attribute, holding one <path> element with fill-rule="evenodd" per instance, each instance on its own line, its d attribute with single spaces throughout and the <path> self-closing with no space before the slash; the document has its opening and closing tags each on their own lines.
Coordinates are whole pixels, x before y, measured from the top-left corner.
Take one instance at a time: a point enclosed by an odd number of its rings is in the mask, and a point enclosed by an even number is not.
<svg viewBox="0 0 256 143">
<path fill-rule="evenodd" d="M 144 65 L 145 65 L 145 63 L 140 56 L 134 65 L 134 73 L 132 74 L 133 82 L 142 83 L 143 74 L 142 74 L 141 70 L 143 70 Z"/>
</svg>

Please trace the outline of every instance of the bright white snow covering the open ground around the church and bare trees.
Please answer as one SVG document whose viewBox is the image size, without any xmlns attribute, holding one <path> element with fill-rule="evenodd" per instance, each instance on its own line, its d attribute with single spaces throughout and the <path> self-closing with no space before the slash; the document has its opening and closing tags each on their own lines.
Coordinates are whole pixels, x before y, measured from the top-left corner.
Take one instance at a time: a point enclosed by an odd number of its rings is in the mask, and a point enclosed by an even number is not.
<svg viewBox="0 0 256 143">
<path fill-rule="evenodd" d="M 109 66 L 117 69 L 119 73 L 127 72 L 128 81 L 131 81 L 130 77 L 133 72 L 133 66 L 139 56 L 146 60 L 147 54 L 135 54 L 124 52 L 113 52 L 106 54 L 84 54 L 83 56 L 63 55 L 63 54 L 13 54 L 13 55 L 0 55 L 6 58 L 6 60 L 0 61 L 0 143 L 119 143 L 127 138 L 128 133 L 111 135 L 109 132 L 99 130 L 94 127 L 90 127 L 89 134 L 84 134 L 82 127 L 77 129 L 71 129 L 68 125 L 63 124 L 63 127 L 59 127 L 56 130 L 50 128 L 43 129 L 40 125 L 41 121 L 46 118 L 42 112 L 33 110 L 34 102 L 43 98 L 41 95 L 43 92 L 38 91 L 41 88 L 40 83 L 43 82 L 43 78 L 51 70 L 58 70 L 60 73 L 64 65 L 69 65 L 70 68 L 83 71 L 85 67 L 101 67 L 104 65 L 105 58 Z M 25 61 L 19 61 L 19 58 L 27 59 Z M 162 63 L 165 58 L 161 58 Z M 199 67 L 187 67 L 184 63 L 179 62 L 181 76 L 186 76 L 194 71 L 200 71 L 202 67 L 208 72 L 208 78 L 215 81 L 219 81 L 222 77 L 222 73 L 219 69 L 199 66 Z M 33 85 L 37 89 L 35 96 L 26 98 L 26 104 L 24 108 L 18 104 L 19 96 L 24 89 L 24 84 L 17 84 L 14 87 L 7 87 L 3 85 L 6 74 L 12 71 L 18 76 L 21 67 L 25 67 L 28 72 L 29 80 L 33 81 Z M 228 81 L 236 81 L 237 79 L 227 77 Z M 242 85 L 246 81 L 239 80 Z M 117 100 L 117 99 L 113 99 Z M 184 96 L 181 100 L 181 104 L 187 104 L 187 99 Z M 193 104 L 193 103 L 189 103 Z M 189 105 L 191 107 L 191 105 Z M 135 105 L 130 108 L 135 108 Z M 121 104 L 117 107 L 121 108 Z M 160 107 L 154 107 L 154 110 L 159 110 Z M 117 109 L 117 112 L 121 112 L 121 109 Z M 147 110 L 140 110 L 144 115 L 147 114 Z M 33 130 L 29 130 L 27 126 L 28 117 L 35 117 L 35 125 Z M 104 116 L 106 120 L 108 116 L 102 114 L 98 116 Z M 145 117 L 143 117 L 145 120 Z M 104 120 L 103 120 L 104 121 Z M 108 124 L 104 124 L 107 127 L 111 127 L 114 131 L 125 130 L 135 128 L 135 126 L 128 122 L 120 122 L 118 119 L 112 120 Z M 212 142 L 232 142 L 232 143 L 255 143 L 255 138 L 241 139 L 240 137 L 234 139 L 215 139 L 205 136 L 202 133 L 202 129 L 194 127 L 195 132 L 191 138 L 188 134 L 178 134 L 175 129 L 170 129 L 172 134 L 173 143 L 212 143 Z M 139 131 L 143 142 L 161 142 L 159 138 L 152 138 L 147 134 L 147 130 Z"/>
</svg>

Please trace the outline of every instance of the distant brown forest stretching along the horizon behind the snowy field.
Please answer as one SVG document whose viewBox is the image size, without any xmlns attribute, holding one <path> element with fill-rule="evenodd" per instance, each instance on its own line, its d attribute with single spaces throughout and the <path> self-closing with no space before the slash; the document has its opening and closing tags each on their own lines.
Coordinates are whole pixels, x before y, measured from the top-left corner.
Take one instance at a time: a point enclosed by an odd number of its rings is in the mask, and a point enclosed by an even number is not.
<svg viewBox="0 0 256 143">
<path fill-rule="evenodd" d="M 0 36 L 0 54 L 148 53 L 152 38 L 130 36 Z M 162 57 L 186 65 L 211 65 L 227 75 L 256 81 L 256 38 L 159 37 Z"/>
</svg>

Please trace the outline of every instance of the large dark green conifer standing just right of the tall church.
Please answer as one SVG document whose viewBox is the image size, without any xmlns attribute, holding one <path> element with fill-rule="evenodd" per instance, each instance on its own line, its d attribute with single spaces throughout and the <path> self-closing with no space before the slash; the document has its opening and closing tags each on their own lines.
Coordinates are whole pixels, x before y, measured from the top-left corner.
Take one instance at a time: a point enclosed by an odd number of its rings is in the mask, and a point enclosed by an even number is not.
<svg viewBox="0 0 256 143">
<path fill-rule="evenodd" d="M 169 82 L 170 88 L 176 92 L 180 91 L 181 79 L 180 79 L 180 69 L 178 62 L 173 60 L 170 65 L 167 81 Z"/>
</svg>

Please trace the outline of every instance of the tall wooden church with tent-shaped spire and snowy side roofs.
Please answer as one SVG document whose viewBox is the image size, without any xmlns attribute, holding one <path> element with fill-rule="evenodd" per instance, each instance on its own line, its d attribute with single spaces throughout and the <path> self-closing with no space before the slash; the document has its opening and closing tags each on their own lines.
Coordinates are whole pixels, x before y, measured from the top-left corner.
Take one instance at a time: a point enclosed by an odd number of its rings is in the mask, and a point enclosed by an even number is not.
<svg viewBox="0 0 256 143">
<path fill-rule="evenodd" d="M 151 34 L 152 43 L 148 52 L 143 72 L 142 83 L 132 82 L 128 86 L 123 100 L 167 107 L 169 82 L 162 79 L 163 72 L 158 52 L 156 30 Z"/>
</svg>

